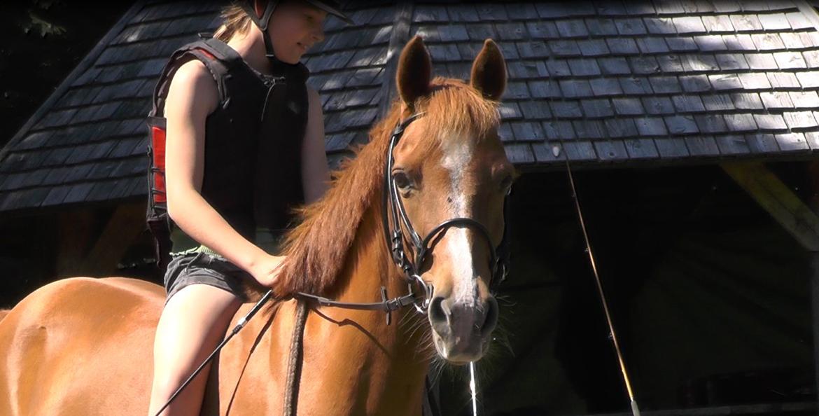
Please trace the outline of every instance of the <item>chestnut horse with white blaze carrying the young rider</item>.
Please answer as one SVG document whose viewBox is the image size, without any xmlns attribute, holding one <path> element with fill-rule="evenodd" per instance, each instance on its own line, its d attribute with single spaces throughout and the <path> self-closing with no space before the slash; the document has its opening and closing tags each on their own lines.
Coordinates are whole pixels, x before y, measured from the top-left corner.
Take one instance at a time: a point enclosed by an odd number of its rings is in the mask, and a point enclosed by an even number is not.
<svg viewBox="0 0 819 416">
<path fill-rule="evenodd" d="M 505 61 L 491 40 L 465 84 L 432 79 L 428 51 L 413 38 L 399 58 L 400 99 L 324 199 L 305 208 L 274 292 L 347 302 L 380 301 L 382 286 L 390 297 L 407 292 L 384 242 L 382 169 L 391 130 L 421 112 L 393 153 L 411 224 L 423 236 L 467 217 L 498 245 L 513 175 L 497 133 L 505 85 Z M 387 325 L 383 312 L 308 303 L 298 413 L 420 414 L 436 351 L 464 364 L 489 346 L 498 311 L 487 246 L 476 229 L 459 225 L 434 239 L 420 270 L 434 287 L 426 317 L 404 308 Z M 69 278 L 20 301 L 0 321 L 0 414 L 146 414 L 164 301 L 162 287 L 129 278 Z M 242 305 L 234 325 L 251 306 Z M 295 310 L 295 301 L 275 302 L 233 337 L 211 366 L 201 414 L 282 413 Z"/>
</svg>

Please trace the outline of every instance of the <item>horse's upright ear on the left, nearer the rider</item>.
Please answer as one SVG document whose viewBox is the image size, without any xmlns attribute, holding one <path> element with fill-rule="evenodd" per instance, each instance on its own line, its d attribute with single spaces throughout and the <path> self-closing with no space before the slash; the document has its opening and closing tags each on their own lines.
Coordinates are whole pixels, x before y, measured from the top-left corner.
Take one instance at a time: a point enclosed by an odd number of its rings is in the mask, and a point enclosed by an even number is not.
<svg viewBox="0 0 819 416">
<path fill-rule="evenodd" d="M 432 58 L 423 45 L 423 39 L 416 35 L 406 44 L 398 59 L 396 85 L 401 101 L 412 108 L 415 100 L 429 94 L 430 80 Z"/>
</svg>

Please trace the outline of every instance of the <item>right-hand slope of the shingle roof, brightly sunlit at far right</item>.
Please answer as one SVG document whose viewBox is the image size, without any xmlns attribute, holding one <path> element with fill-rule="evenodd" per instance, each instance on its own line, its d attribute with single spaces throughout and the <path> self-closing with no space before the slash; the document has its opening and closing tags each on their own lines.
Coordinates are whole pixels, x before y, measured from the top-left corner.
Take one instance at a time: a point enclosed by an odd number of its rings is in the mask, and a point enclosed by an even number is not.
<svg viewBox="0 0 819 416">
<path fill-rule="evenodd" d="M 819 34 L 794 2 L 428 5 L 414 22 L 455 76 L 500 39 L 501 136 L 518 164 L 819 150 Z"/>
</svg>

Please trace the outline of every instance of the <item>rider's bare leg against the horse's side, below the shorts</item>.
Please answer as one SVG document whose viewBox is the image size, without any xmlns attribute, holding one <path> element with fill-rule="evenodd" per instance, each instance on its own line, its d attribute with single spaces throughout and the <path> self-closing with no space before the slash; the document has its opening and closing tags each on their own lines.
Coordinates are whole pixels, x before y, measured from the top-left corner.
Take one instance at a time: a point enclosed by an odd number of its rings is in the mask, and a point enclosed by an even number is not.
<svg viewBox="0 0 819 416">
<path fill-rule="evenodd" d="M 205 284 L 184 287 L 171 296 L 156 327 L 154 378 L 149 416 L 224 339 L 242 302 L 232 293 Z M 210 364 L 174 399 L 163 416 L 198 415 Z"/>
</svg>

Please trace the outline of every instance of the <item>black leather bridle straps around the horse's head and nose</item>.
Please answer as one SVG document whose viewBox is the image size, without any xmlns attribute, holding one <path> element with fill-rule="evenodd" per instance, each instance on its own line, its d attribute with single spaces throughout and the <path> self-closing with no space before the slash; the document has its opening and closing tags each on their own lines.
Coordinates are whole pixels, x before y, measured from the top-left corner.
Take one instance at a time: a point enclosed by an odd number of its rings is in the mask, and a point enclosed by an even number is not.
<svg viewBox="0 0 819 416">
<path fill-rule="evenodd" d="M 497 248 L 492 245 L 492 239 L 486 227 L 471 218 L 459 217 L 447 219 L 437 227 L 432 228 L 432 231 L 430 231 L 423 239 L 421 239 L 419 233 L 415 232 L 415 228 L 412 226 L 412 223 L 409 222 L 409 217 L 406 215 L 404 203 L 398 194 L 395 178 L 392 176 L 392 168 L 395 163 L 395 157 L 392 153 L 395 150 L 396 144 L 400 140 L 401 136 L 404 135 L 407 126 L 409 126 L 409 124 L 411 124 L 414 120 L 418 120 L 422 115 L 423 113 L 416 113 L 400 122 L 398 126 L 396 126 L 396 129 L 393 130 L 390 137 L 390 146 L 387 149 L 387 164 L 384 167 L 382 223 L 384 228 L 384 237 L 387 242 L 387 246 L 390 248 L 392 253 L 392 261 L 404 273 L 405 280 L 409 285 L 410 293 L 413 292 L 413 285 L 420 287 L 420 292 L 422 292 L 423 295 L 416 298 L 414 306 L 420 313 L 425 314 L 430 302 L 432 301 L 432 293 L 434 292 L 434 288 L 432 287 L 431 283 L 424 282 L 423 278 L 421 278 L 420 270 L 427 253 L 432 251 L 433 247 L 430 246 L 432 239 L 441 233 L 445 233 L 446 229 L 450 227 L 466 227 L 476 230 L 477 233 L 481 235 L 488 243 L 490 252 L 489 265 L 492 271 L 490 287 L 491 289 L 495 290 L 497 285 L 506 279 L 506 274 L 509 271 L 509 241 L 507 238 L 509 236 L 509 222 L 506 221 L 505 218 L 504 236 Z M 506 215 L 508 204 L 509 193 L 507 193 L 507 197 L 505 197 L 504 201 L 504 215 Z M 390 219 L 393 228 L 390 228 Z M 414 262 L 410 261 L 405 253 L 405 237 L 401 228 L 402 225 L 409 234 L 408 240 L 414 254 Z"/>
</svg>

